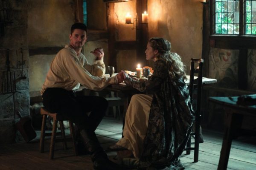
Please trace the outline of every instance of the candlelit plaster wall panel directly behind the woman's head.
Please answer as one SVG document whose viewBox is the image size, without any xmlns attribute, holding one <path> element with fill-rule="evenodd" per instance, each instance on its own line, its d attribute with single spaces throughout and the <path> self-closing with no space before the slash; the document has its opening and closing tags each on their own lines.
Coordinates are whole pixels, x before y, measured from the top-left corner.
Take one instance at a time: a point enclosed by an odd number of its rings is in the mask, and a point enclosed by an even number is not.
<svg viewBox="0 0 256 170">
<path fill-rule="evenodd" d="M 171 42 L 187 66 L 190 59 L 201 58 L 203 5 L 201 0 L 148 0 L 149 37 L 163 37 Z"/>
</svg>

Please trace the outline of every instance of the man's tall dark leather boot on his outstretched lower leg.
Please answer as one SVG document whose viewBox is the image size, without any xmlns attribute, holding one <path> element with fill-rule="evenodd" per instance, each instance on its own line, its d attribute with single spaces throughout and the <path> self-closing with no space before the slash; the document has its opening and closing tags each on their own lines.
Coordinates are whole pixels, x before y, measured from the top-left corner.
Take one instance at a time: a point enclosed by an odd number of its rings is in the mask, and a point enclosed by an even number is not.
<svg viewBox="0 0 256 170">
<path fill-rule="evenodd" d="M 81 130 L 81 138 L 83 139 L 86 149 L 90 152 L 95 170 L 123 170 L 125 168 L 110 161 L 103 148 L 100 146 L 96 134 L 93 131 Z"/>
</svg>

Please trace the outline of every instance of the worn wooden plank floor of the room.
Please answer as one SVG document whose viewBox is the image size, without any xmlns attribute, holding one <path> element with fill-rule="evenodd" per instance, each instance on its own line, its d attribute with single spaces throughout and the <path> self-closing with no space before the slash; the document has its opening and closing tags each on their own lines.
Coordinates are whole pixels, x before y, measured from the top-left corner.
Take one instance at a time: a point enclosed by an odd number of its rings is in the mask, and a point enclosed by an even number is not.
<svg viewBox="0 0 256 170">
<path fill-rule="evenodd" d="M 67 130 L 68 133 L 68 130 Z M 102 146 L 116 143 L 121 138 L 122 122 L 104 119 L 96 130 Z M 221 133 L 204 130 L 204 143 L 199 147 L 199 161 L 193 163 L 193 152 L 182 154 L 180 160 L 186 170 L 217 170 L 221 150 Z M 46 140 L 45 153 L 39 153 L 39 136 L 31 143 L 17 143 L 0 146 L 0 170 L 93 170 L 90 156 L 73 156 L 72 145 L 62 150 L 61 143 L 56 143 L 55 157 L 49 159 L 49 140 Z M 108 152 L 111 159 L 115 152 Z M 228 170 L 256 170 L 256 138 L 239 138 L 233 141 L 230 151 Z"/>
</svg>

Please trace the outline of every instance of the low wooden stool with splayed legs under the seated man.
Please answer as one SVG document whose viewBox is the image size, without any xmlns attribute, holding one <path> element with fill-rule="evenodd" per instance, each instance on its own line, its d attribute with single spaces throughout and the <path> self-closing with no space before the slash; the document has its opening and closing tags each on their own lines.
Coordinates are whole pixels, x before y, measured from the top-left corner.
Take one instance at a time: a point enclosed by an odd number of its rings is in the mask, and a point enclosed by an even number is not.
<svg viewBox="0 0 256 170">
<path fill-rule="evenodd" d="M 76 148 L 73 122 L 71 122 L 71 120 L 68 119 L 67 117 L 64 117 L 64 116 L 61 116 L 61 115 L 58 115 L 58 119 L 57 119 L 57 113 L 51 113 L 51 112 L 47 111 L 45 108 L 41 108 L 40 114 L 43 115 L 42 127 L 41 127 L 40 146 L 39 146 L 40 152 L 44 153 L 44 137 L 45 136 L 52 136 L 51 137 L 51 143 L 50 143 L 50 151 L 49 151 L 49 158 L 50 159 L 53 159 L 53 156 L 54 156 L 55 142 L 62 142 L 64 149 L 67 149 L 67 140 L 65 138 L 65 131 L 64 131 L 64 125 L 63 125 L 63 121 L 67 120 L 67 121 L 69 121 L 69 124 L 70 124 L 70 136 L 72 137 L 72 140 L 73 140 L 73 149 L 74 149 L 74 152 L 75 152 L 75 156 L 77 156 L 78 152 L 77 152 L 77 148 Z M 46 133 L 45 132 L 47 116 L 50 116 L 53 119 L 52 133 Z M 58 121 L 60 123 L 61 132 L 56 133 Z M 61 139 L 55 139 L 56 136 L 60 136 L 60 135 L 61 135 Z"/>
</svg>

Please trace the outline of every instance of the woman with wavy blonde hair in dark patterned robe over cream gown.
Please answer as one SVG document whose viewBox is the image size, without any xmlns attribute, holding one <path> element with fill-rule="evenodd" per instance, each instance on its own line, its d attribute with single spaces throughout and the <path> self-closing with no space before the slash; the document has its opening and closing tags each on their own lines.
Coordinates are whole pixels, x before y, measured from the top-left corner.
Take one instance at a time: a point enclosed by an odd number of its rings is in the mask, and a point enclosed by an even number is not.
<svg viewBox="0 0 256 170">
<path fill-rule="evenodd" d="M 125 83 L 147 94 L 132 96 L 124 137 L 111 149 L 119 150 L 120 157 L 134 157 L 133 161 L 124 160 L 135 167 L 184 169 L 179 156 L 189 139 L 194 116 L 183 62 L 170 50 L 166 39 L 151 38 L 145 54 L 147 60 L 154 61 L 152 77 L 140 82 L 123 72 Z"/>
</svg>

